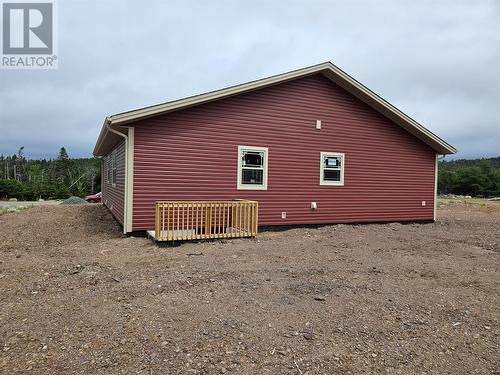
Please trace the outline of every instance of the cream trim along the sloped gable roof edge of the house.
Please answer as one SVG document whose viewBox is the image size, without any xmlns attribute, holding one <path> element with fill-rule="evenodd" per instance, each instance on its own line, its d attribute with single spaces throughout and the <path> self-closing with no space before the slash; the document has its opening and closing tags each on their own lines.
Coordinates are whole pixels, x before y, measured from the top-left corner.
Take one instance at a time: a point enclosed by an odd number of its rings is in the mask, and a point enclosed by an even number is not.
<svg viewBox="0 0 500 375">
<path fill-rule="evenodd" d="M 94 155 L 99 156 L 105 153 L 109 144 L 104 144 L 104 140 L 107 137 L 106 124 L 126 124 L 140 119 L 153 117 L 159 114 L 172 112 L 175 110 L 195 106 L 202 103 L 207 103 L 210 101 L 218 100 L 221 98 L 237 95 L 243 92 L 253 91 L 267 86 L 276 85 L 300 77 L 305 77 L 311 74 L 321 73 L 331 81 L 335 82 L 339 86 L 343 87 L 349 91 L 354 96 L 358 97 L 363 102 L 370 105 L 372 108 L 382 113 L 396 124 L 401 126 L 403 129 L 409 131 L 414 136 L 428 144 L 430 147 L 435 149 L 441 154 L 454 154 L 457 150 L 446 143 L 444 140 L 439 138 L 437 135 L 420 125 L 418 122 L 413 120 L 408 115 L 401 112 L 399 109 L 394 107 L 392 104 L 382 99 L 380 96 L 375 94 L 373 91 L 369 90 L 367 87 L 363 86 L 361 83 L 356 81 L 354 78 L 349 76 L 343 70 L 339 69 L 337 66 L 331 62 L 325 62 L 313 66 L 309 66 L 303 69 L 294 70 L 291 72 L 275 75 L 272 77 L 248 82 L 245 84 L 227 87 L 221 90 L 208 92 L 201 95 L 191 96 L 188 98 L 175 100 L 172 102 L 162 103 L 158 105 L 153 105 L 150 107 L 145 107 L 133 111 L 118 113 L 113 116 L 107 117 L 104 121 L 103 129 L 99 134 L 99 138 L 94 147 Z"/>
</svg>

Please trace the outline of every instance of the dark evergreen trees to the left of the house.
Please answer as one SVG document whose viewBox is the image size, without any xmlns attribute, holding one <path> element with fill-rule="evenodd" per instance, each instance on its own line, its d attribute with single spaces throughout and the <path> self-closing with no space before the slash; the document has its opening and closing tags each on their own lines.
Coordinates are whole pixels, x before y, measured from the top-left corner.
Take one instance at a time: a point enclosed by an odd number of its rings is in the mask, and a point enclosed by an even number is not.
<svg viewBox="0 0 500 375">
<path fill-rule="evenodd" d="M 100 190 L 99 159 L 71 159 L 64 147 L 56 159 L 28 159 L 24 147 L 14 155 L 0 155 L 0 198 L 65 199 Z"/>
</svg>

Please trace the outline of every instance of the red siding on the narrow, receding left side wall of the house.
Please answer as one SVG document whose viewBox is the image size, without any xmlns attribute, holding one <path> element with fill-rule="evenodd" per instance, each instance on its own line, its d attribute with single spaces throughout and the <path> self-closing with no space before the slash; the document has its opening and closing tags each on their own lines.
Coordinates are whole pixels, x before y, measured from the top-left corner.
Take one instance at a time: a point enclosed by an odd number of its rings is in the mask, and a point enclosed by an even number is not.
<svg viewBox="0 0 500 375">
<path fill-rule="evenodd" d="M 102 158 L 102 202 L 109 208 L 113 216 L 123 225 L 123 203 L 125 196 L 125 141 L 120 142 L 114 148 L 116 150 L 116 184 L 106 181 L 108 167 L 111 168 L 111 151 Z"/>
</svg>

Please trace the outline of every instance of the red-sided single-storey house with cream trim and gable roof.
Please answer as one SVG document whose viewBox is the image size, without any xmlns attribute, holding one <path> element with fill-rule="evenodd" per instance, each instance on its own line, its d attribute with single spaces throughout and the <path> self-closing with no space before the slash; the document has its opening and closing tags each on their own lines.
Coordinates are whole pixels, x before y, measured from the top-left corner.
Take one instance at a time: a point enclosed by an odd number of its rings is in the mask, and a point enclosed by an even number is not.
<svg viewBox="0 0 500 375">
<path fill-rule="evenodd" d="M 219 202 L 228 234 L 237 199 L 261 226 L 431 221 L 438 155 L 455 152 L 330 62 L 106 117 L 94 148 L 124 233 L 184 230 L 156 203 L 182 201 L 195 236 L 217 220 L 196 203 Z"/>
</svg>

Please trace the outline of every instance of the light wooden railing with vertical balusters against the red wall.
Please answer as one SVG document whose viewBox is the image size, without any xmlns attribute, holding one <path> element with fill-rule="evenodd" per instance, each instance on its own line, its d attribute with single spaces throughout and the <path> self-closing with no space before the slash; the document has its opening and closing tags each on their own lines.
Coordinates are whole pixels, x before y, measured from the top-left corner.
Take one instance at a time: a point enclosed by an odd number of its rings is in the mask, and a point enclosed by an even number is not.
<svg viewBox="0 0 500 375">
<path fill-rule="evenodd" d="M 258 217 L 259 207 L 254 201 L 156 202 L 155 239 L 255 237 Z"/>
</svg>

